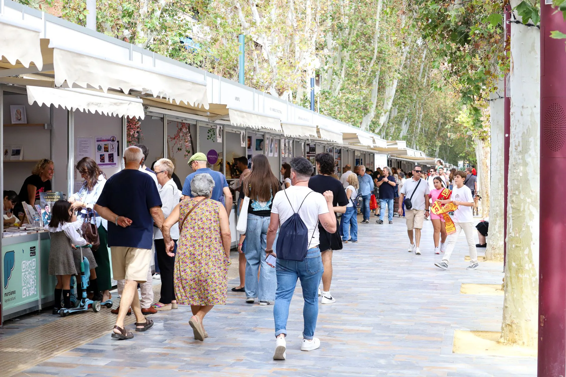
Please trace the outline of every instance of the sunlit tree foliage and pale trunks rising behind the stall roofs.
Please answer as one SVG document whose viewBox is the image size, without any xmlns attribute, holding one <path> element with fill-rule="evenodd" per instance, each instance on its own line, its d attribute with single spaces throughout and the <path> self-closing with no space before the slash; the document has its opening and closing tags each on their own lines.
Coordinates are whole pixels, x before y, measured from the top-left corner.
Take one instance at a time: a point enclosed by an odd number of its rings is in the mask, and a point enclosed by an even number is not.
<svg viewBox="0 0 566 377">
<path fill-rule="evenodd" d="M 85 24 L 84 1 L 62 3 Z M 232 80 L 245 34 L 246 85 L 308 107 L 315 77 L 316 110 L 455 162 L 473 156 L 462 105 L 484 99 L 502 52 L 500 11 L 482 3 L 107 0 L 97 30 Z"/>
</svg>

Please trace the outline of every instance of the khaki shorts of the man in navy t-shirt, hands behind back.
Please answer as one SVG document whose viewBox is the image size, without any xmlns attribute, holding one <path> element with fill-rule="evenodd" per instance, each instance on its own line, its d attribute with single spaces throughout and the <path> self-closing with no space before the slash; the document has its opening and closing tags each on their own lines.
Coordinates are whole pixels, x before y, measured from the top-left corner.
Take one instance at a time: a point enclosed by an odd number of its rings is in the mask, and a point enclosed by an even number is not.
<svg viewBox="0 0 566 377">
<path fill-rule="evenodd" d="M 111 246 L 112 274 L 114 280 L 147 281 L 147 271 L 151 265 L 151 249 L 126 248 Z"/>
</svg>

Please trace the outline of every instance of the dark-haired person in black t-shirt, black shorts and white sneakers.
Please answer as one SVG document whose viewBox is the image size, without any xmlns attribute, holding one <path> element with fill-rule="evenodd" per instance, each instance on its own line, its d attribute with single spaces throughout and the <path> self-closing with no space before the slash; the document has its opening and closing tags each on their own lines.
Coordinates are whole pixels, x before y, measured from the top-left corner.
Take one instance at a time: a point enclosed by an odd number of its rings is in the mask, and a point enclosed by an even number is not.
<svg viewBox="0 0 566 377">
<path fill-rule="evenodd" d="M 345 213 L 346 204 L 348 204 L 348 197 L 344 186 L 336 178 L 331 177 L 334 172 L 334 158 L 328 153 L 319 153 L 315 156 L 316 169 L 320 174 L 311 177 L 308 180 L 308 188 L 311 190 L 324 193 L 331 190 L 334 198 L 332 206 L 335 213 Z M 322 262 L 324 265 L 324 272 L 322 274 L 323 292 L 321 304 L 332 304 L 335 298 L 330 294 L 330 285 L 332 283 L 332 250 L 342 249 L 342 237 L 340 236 L 340 227 L 338 220 L 336 220 L 337 228 L 335 233 L 328 233 L 325 231 L 322 224 L 319 224 L 319 248 L 322 255 Z"/>
</svg>

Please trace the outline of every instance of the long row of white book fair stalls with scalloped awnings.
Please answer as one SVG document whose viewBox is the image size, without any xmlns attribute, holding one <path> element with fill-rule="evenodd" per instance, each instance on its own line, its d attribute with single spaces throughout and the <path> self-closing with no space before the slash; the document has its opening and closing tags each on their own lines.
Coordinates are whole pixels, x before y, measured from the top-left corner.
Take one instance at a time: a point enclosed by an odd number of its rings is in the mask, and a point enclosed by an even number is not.
<svg viewBox="0 0 566 377">
<path fill-rule="evenodd" d="M 267 156 L 277 177 L 282 163 L 297 156 L 314 163 L 323 151 L 335 157 L 338 176 L 346 164 L 375 168 L 395 153 L 430 160 L 284 99 L 10 0 L 0 6 L 0 59 L 3 191 L 19 193 L 36 163 L 49 159 L 52 193 L 68 198 L 82 185 L 76 162 L 91 157 L 108 178 L 121 170 L 125 148 L 136 143 L 149 149 L 146 166 L 169 158 L 181 181 L 192 172 L 188 158 L 201 151 L 233 188 L 239 179 L 234 159 L 246 157 L 250 166 L 255 154 Z M 230 214 L 233 246 L 237 191 Z M 0 320 L 53 304 L 49 233 L 42 230 L 40 201 L 26 204 L 31 220 L 18 219 L 19 227 L 0 225 Z"/>
</svg>

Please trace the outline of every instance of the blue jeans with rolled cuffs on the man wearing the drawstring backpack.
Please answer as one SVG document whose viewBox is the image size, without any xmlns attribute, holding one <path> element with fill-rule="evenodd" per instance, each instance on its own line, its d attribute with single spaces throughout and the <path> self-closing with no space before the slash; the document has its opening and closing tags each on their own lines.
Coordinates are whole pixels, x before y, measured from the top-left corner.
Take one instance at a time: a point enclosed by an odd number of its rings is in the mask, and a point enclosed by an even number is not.
<svg viewBox="0 0 566 377">
<path fill-rule="evenodd" d="M 318 317 L 318 287 L 324 271 L 320 249 L 318 246 L 307 250 L 304 261 L 286 261 L 277 258 L 277 292 L 275 293 L 275 306 L 273 318 L 275 319 L 275 336 L 287 335 L 287 319 L 289 318 L 289 305 L 297 278 L 301 280 L 303 291 L 303 338 L 312 339 L 315 335 L 316 318 Z M 247 280 L 246 280 L 247 281 Z"/>
</svg>

